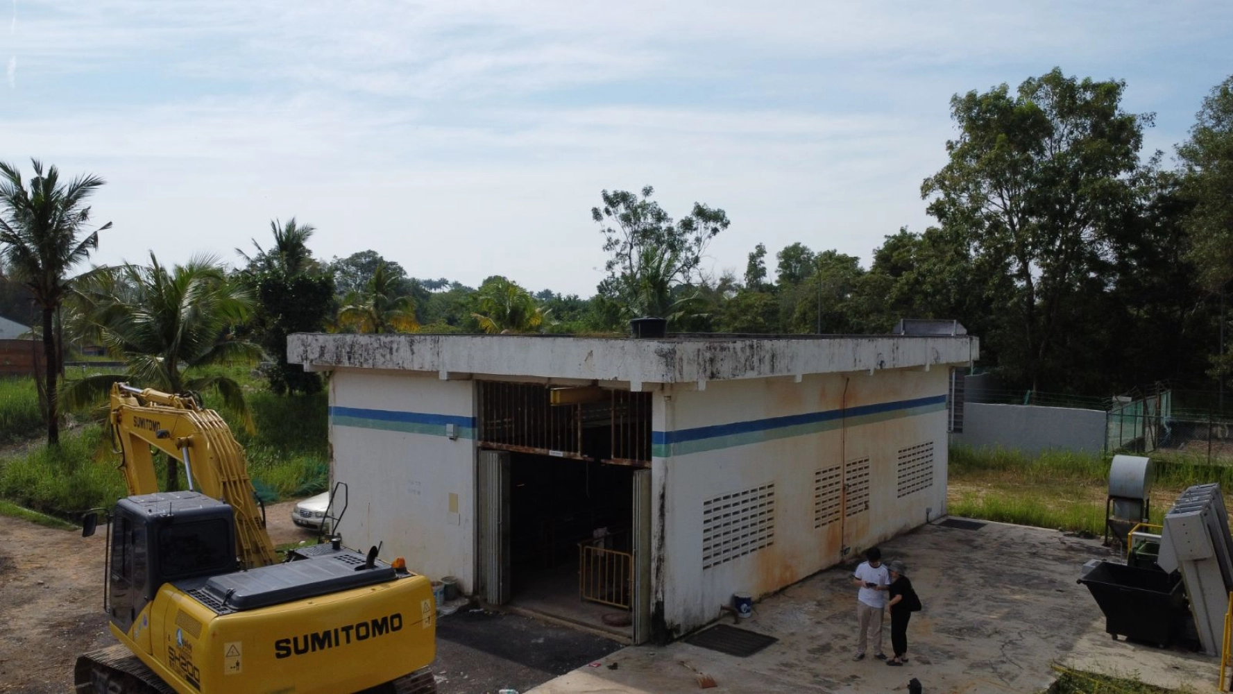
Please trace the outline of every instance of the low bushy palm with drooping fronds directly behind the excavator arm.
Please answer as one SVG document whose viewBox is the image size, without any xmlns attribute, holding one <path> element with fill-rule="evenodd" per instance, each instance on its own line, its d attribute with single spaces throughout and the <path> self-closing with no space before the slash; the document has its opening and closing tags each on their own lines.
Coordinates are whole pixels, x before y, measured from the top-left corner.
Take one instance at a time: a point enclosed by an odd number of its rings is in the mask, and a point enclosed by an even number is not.
<svg viewBox="0 0 1233 694">
<path fill-rule="evenodd" d="M 94 277 L 73 304 L 109 351 L 125 360 L 127 374 L 74 381 L 64 391 L 70 407 L 104 399 L 117 381 L 170 393 L 212 390 L 245 429 L 254 429 L 239 383 L 195 375 L 201 366 L 260 355 L 258 345 L 228 335 L 252 312 L 253 301 L 218 258 L 199 255 L 169 270 L 150 254 L 148 266 L 122 265 Z M 176 487 L 176 470 L 168 466 L 168 489 Z"/>
</svg>

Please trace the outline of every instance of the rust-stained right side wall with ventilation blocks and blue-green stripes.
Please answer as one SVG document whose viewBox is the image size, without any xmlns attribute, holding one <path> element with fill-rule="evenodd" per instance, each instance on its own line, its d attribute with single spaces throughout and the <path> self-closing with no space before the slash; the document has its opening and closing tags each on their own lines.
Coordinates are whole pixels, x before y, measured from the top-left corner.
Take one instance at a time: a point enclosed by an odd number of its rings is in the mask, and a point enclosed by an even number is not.
<svg viewBox="0 0 1233 694">
<path fill-rule="evenodd" d="M 777 590 L 837 563 L 845 547 L 859 552 L 942 515 L 946 392 L 944 369 L 887 370 L 806 376 L 799 383 L 713 382 L 658 399 L 653 482 L 663 523 L 656 574 L 668 629 L 698 627 L 734 592 Z M 900 450 L 927 443 L 933 444 L 930 483 L 900 497 Z M 864 457 L 867 508 L 859 504 L 852 515 L 815 528 L 816 472 L 841 463 L 851 472 Z M 704 568 L 707 502 L 772 483 L 773 544 Z"/>
</svg>

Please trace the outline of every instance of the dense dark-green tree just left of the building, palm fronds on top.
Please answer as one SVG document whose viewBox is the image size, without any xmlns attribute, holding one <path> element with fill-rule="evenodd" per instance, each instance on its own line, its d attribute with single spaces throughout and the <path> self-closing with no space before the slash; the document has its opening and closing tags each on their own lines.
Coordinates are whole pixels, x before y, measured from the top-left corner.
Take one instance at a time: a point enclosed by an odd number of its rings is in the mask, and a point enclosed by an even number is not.
<svg viewBox="0 0 1233 694">
<path fill-rule="evenodd" d="M 258 300 L 253 320 L 256 337 L 274 362 L 266 376 L 277 394 L 314 393 L 321 391 L 321 377 L 287 362 L 287 335 L 324 328 L 334 300 L 334 277 L 308 250 L 316 232 L 311 224 L 298 224 L 295 217 L 286 224 L 275 219 L 270 231 L 274 245 L 269 250 L 255 239 L 252 258 L 236 249 L 248 261 L 242 276 Z"/>
</svg>

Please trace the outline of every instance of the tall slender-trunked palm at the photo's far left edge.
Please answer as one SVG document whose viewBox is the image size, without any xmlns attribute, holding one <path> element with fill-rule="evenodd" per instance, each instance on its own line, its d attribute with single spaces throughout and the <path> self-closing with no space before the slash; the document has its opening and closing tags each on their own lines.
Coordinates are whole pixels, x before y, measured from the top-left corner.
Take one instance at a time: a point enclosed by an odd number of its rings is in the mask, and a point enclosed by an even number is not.
<svg viewBox="0 0 1233 694">
<path fill-rule="evenodd" d="M 0 161 L 0 260 L 14 279 L 30 288 L 43 313 L 41 386 L 46 392 L 47 444 L 59 445 L 60 345 L 55 313 L 72 281 L 69 270 L 99 248 L 99 232 L 111 228 L 111 222 L 86 229 L 90 207 L 85 201 L 104 185 L 101 178 L 84 175 L 62 184 L 55 166 L 44 174 L 41 161 L 35 159 L 32 164 L 35 178 L 27 190 L 21 171 Z"/>
</svg>

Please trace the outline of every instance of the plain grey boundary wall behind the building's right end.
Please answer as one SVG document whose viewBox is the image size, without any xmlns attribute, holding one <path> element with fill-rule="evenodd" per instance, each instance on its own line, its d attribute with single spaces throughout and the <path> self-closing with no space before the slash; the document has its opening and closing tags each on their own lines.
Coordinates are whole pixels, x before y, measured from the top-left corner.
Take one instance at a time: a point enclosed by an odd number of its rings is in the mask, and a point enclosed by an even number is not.
<svg viewBox="0 0 1233 694">
<path fill-rule="evenodd" d="M 1100 409 L 969 402 L 963 433 L 952 434 L 951 443 L 1030 455 L 1049 449 L 1099 454 L 1105 449 L 1105 415 Z"/>
</svg>

